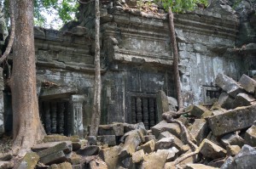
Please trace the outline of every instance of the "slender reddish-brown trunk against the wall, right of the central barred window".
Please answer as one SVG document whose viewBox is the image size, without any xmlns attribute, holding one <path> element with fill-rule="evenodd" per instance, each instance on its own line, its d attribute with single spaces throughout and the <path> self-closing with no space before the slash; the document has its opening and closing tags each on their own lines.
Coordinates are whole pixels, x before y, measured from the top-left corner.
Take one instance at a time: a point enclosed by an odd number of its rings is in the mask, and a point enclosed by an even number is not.
<svg viewBox="0 0 256 169">
<path fill-rule="evenodd" d="M 178 65 L 177 65 L 178 64 L 177 42 L 176 42 L 176 36 L 174 31 L 172 8 L 169 8 L 168 14 L 169 14 L 169 29 L 170 29 L 172 49 L 173 49 L 173 69 L 174 69 L 175 85 L 177 90 L 177 104 L 178 104 L 178 109 L 182 109 L 183 98 L 181 93 L 181 87 L 180 87 L 180 81 L 179 81 L 180 76 L 179 76 Z"/>
</svg>

